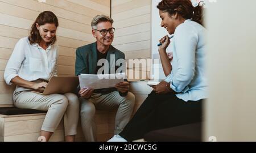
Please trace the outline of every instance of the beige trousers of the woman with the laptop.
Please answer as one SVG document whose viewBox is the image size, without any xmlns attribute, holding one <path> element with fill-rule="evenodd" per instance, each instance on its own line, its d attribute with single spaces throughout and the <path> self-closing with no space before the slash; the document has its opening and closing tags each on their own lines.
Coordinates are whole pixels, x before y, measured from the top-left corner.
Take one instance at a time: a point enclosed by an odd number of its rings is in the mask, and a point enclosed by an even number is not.
<svg viewBox="0 0 256 153">
<path fill-rule="evenodd" d="M 76 135 L 80 104 L 75 94 L 41 95 L 31 91 L 21 91 L 14 92 L 13 99 L 17 108 L 48 111 L 41 130 L 54 132 L 64 116 L 65 136 Z"/>
</svg>

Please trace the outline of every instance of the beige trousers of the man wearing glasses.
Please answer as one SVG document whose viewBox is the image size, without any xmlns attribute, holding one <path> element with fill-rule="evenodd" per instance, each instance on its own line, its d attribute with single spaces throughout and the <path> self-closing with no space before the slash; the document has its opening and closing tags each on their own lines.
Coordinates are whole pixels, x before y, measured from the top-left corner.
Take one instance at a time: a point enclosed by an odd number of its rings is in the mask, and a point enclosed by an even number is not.
<svg viewBox="0 0 256 153">
<path fill-rule="evenodd" d="M 94 114 L 97 109 L 112 110 L 117 109 L 115 116 L 114 134 L 120 133 L 130 121 L 133 113 L 135 96 L 128 92 L 127 96 L 120 96 L 118 91 L 110 94 L 92 94 L 90 99 L 79 98 L 81 102 L 81 125 L 86 141 L 97 141 L 96 124 Z"/>
</svg>

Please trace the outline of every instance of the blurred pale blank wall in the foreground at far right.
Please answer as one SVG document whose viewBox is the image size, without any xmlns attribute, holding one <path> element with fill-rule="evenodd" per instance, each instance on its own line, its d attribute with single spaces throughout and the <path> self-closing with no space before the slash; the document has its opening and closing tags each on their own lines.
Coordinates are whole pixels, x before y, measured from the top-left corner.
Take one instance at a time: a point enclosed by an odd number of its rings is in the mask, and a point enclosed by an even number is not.
<svg viewBox="0 0 256 153">
<path fill-rule="evenodd" d="M 205 141 L 256 141 L 256 1 L 210 3 Z"/>
</svg>

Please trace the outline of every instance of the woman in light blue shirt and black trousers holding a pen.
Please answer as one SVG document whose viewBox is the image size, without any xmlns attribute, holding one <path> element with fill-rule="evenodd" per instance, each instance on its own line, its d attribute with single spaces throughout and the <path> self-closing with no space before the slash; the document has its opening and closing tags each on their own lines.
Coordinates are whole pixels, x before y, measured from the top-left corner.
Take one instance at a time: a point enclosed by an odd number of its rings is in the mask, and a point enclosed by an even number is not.
<svg viewBox="0 0 256 153">
<path fill-rule="evenodd" d="M 206 99 L 205 28 L 203 8 L 190 0 L 159 2 L 161 27 L 172 39 L 173 59 L 167 56 L 168 36 L 160 39 L 159 55 L 166 79 L 154 86 L 131 121 L 110 141 L 133 141 L 152 130 L 201 122 L 201 105 Z"/>
</svg>

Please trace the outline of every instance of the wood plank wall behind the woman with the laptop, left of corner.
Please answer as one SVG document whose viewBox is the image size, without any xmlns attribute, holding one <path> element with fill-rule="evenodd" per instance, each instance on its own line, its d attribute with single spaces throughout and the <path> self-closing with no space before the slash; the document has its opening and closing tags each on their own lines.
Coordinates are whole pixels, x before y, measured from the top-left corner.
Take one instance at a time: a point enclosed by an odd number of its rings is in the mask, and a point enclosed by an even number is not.
<svg viewBox="0 0 256 153">
<path fill-rule="evenodd" d="M 110 16 L 110 0 L 0 0 L 0 107 L 13 105 L 15 87 L 6 85 L 3 71 L 14 46 L 20 38 L 28 36 L 36 17 L 46 10 L 53 11 L 60 23 L 58 74 L 74 75 L 75 50 L 94 42 L 90 22 L 98 14 Z"/>
</svg>

